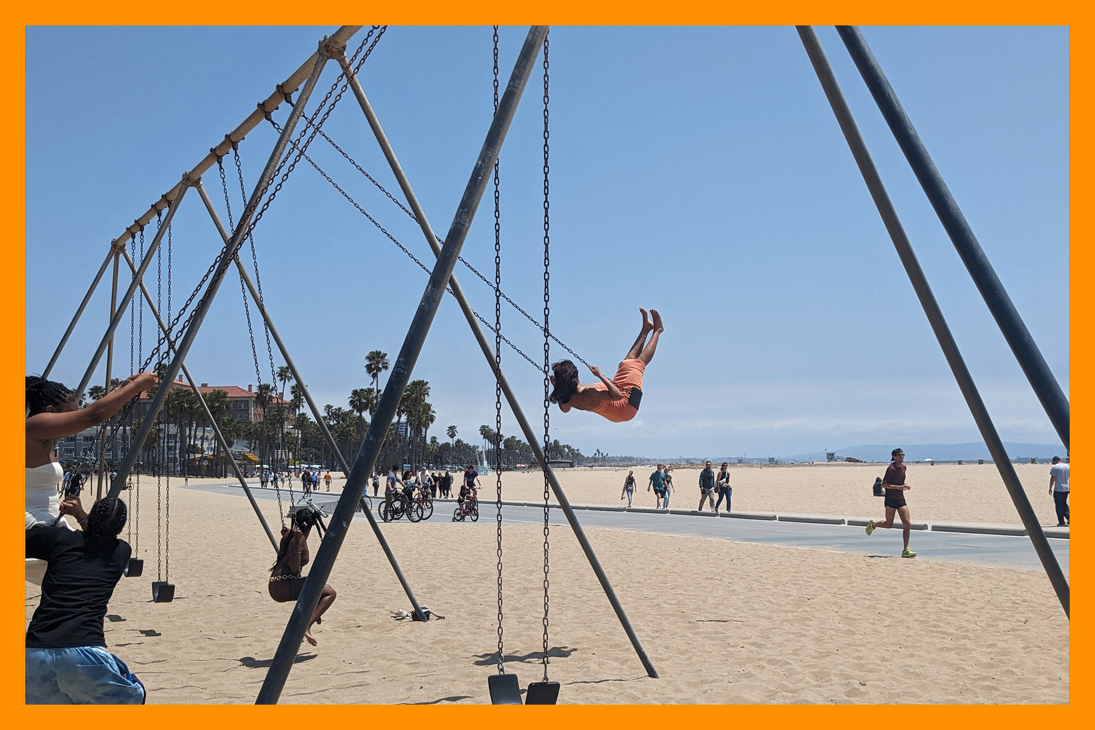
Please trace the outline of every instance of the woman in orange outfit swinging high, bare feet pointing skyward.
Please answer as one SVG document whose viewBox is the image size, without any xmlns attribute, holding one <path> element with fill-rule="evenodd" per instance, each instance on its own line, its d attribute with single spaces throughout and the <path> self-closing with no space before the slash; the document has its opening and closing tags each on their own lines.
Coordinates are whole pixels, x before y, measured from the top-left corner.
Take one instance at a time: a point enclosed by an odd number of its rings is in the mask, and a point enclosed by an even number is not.
<svg viewBox="0 0 1095 730">
<path fill-rule="evenodd" d="M 643 399 L 643 372 L 654 358 L 658 335 L 664 331 L 658 310 L 650 310 L 649 318 L 646 310 L 638 311 L 643 314 L 643 328 L 612 380 L 597 366 L 590 366 L 589 371 L 601 382 L 583 385 L 578 381 L 578 367 L 569 360 L 560 360 L 551 367 L 555 373 L 551 376 L 555 386 L 551 401 L 557 403 L 563 413 L 568 413 L 570 408 L 589 410 L 616 424 L 631 420 L 638 413 L 638 404 Z"/>
</svg>

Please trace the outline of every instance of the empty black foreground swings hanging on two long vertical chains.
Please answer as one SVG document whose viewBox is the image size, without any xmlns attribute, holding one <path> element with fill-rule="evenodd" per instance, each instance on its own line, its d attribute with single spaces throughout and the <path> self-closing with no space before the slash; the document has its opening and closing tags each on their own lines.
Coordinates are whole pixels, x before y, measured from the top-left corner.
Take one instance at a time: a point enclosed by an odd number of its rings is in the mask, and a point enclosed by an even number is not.
<svg viewBox="0 0 1095 730">
<path fill-rule="evenodd" d="M 548 216 L 548 38 L 544 38 L 544 453 L 546 453 L 550 433 L 550 401 L 548 399 L 550 372 L 550 341 L 548 316 L 549 290 L 549 216 Z M 494 26 L 494 108 L 498 111 L 498 26 Z M 497 569 L 498 569 L 498 673 L 487 677 L 493 705 L 521 705 L 521 685 L 516 674 L 507 673 L 503 645 L 503 594 L 502 594 L 502 211 L 499 206 L 498 161 L 494 163 L 494 366 L 495 366 L 495 432 L 494 432 L 494 472 L 497 508 Z M 543 465 L 546 470 L 546 464 Z M 550 485 L 544 473 L 544 615 L 543 615 L 543 680 L 529 684 L 525 695 L 525 705 L 554 705 L 558 702 L 558 682 L 548 677 L 548 609 L 549 609 L 549 571 L 551 569 L 549 554 L 549 507 Z"/>
</svg>

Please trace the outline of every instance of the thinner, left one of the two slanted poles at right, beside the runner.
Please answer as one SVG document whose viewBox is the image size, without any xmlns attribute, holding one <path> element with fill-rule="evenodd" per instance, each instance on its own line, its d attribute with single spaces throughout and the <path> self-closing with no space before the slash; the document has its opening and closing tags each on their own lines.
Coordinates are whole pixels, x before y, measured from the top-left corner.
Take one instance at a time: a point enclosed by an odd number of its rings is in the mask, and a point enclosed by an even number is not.
<svg viewBox="0 0 1095 730">
<path fill-rule="evenodd" d="M 1015 503 L 1019 519 L 1023 520 L 1023 525 L 1026 528 L 1027 534 L 1030 535 L 1034 549 L 1038 554 L 1042 567 L 1046 569 L 1046 575 L 1049 576 L 1049 581 L 1053 584 L 1053 590 L 1057 591 L 1057 598 L 1064 609 L 1064 615 L 1068 616 L 1069 581 L 1064 578 L 1061 566 L 1057 563 L 1057 556 L 1053 555 L 1053 549 L 1049 546 L 1046 533 L 1042 532 L 1041 525 L 1038 523 L 1038 517 L 1030 507 L 1030 500 L 1027 499 L 1018 475 L 1015 474 L 1015 466 L 1007 457 L 1007 452 L 1000 440 L 1000 434 L 996 433 L 996 428 L 993 426 L 992 419 L 989 417 L 989 412 L 981 401 L 981 395 L 973 383 L 973 378 L 966 368 L 961 352 L 958 351 L 958 345 L 955 343 L 954 336 L 950 334 L 950 328 L 943 317 L 938 302 L 935 301 L 935 294 L 932 293 L 927 278 L 924 276 L 923 269 L 920 268 L 920 262 L 917 260 L 917 254 L 912 250 L 909 236 L 906 235 L 904 228 L 897 216 L 897 210 L 894 208 L 894 204 L 886 193 L 886 187 L 883 185 L 881 177 L 878 175 L 875 163 L 871 159 L 871 153 L 867 151 L 867 146 L 860 135 L 855 119 L 852 118 L 852 112 L 844 101 L 843 93 L 840 91 L 837 77 L 833 76 L 832 69 L 829 67 L 829 60 L 826 58 L 825 51 L 818 43 L 817 34 L 808 25 L 799 25 L 797 27 L 798 35 L 806 47 L 806 53 L 814 65 L 814 70 L 817 72 L 825 94 L 829 99 L 829 104 L 832 106 L 833 114 L 837 116 L 837 121 L 844 132 L 848 146 L 852 149 L 852 155 L 855 158 L 860 172 L 863 174 L 863 179 L 867 184 L 871 197 L 874 198 L 875 206 L 878 208 L 883 222 L 886 224 L 886 230 L 894 241 L 894 247 L 897 248 L 901 264 L 909 275 L 909 281 L 912 282 L 917 298 L 920 300 L 921 306 L 924 308 L 924 314 L 927 315 L 927 321 L 931 323 L 932 331 L 940 341 L 940 347 L 947 359 L 947 364 L 950 366 L 950 371 L 954 373 L 955 380 L 958 382 L 958 387 L 966 398 L 966 404 L 973 415 L 973 420 L 981 431 L 981 438 L 984 439 L 984 443 L 992 454 L 992 461 L 1000 471 L 1000 476 L 1004 480 L 1004 486 L 1007 487 L 1007 493 L 1011 495 L 1012 501 Z"/>
</svg>

